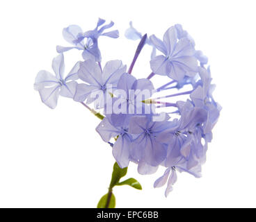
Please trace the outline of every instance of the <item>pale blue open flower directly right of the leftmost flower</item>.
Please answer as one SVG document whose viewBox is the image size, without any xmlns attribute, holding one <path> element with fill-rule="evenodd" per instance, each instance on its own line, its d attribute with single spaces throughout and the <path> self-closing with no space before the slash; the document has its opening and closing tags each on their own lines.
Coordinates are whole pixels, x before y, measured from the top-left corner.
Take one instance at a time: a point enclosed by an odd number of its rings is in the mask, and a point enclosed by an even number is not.
<svg viewBox="0 0 256 222">
<path fill-rule="evenodd" d="M 126 66 L 122 65 L 120 60 L 106 62 L 103 70 L 93 60 L 81 62 L 78 76 L 86 84 L 77 85 L 74 100 L 79 102 L 86 100 L 86 103 L 89 104 L 99 99 L 97 108 L 104 108 L 106 94 L 112 93 L 118 84 L 120 76 L 125 71 Z M 100 96 L 100 98 L 96 98 L 93 94 Z"/>
</svg>

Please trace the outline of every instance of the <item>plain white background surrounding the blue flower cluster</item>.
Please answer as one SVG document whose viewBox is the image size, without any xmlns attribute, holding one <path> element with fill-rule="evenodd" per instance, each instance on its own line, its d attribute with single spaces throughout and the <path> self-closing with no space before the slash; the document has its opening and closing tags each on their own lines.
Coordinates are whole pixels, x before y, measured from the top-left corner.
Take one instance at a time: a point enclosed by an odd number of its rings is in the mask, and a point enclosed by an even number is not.
<svg viewBox="0 0 256 222">
<path fill-rule="evenodd" d="M 129 65 L 138 42 L 123 37 L 129 21 L 142 33 L 162 37 L 182 24 L 209 57 L 223 106 L 209 144 L 202 178 L 179 173 L 168 198 L 131 164 L 127 178 L 142 191 L 116 187 L 116 207 L 256 207 L 255 1 L 1 1 L 0 3 L 0 207 L 95 207 L 106 193 L 114 159 L 95 132 L 99 120 L 71 99 L 60 97 L 55 110 L 41 103 L 33 81 L 51 71 L 56 45 L 69 46 L 62 29 L 95 28 L 97 18 L 113 20 L 120 39 L 102 37 L 103 63 Z M 150 48 L 134 67 L 150 74 Z M 65 56 L 66 73 L 79 51 Z M 155 78 L 155 77 L 154 77 Z M 157 78 L 152 79 L 157 80 Z"/>
</svg>

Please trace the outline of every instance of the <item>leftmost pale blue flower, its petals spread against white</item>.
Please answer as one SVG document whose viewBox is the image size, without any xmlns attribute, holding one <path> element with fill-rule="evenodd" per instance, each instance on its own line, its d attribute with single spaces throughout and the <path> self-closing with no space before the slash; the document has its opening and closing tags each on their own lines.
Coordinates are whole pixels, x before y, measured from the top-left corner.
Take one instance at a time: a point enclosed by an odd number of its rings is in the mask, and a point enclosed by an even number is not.
<svg viewBox="0 0 256 222">
<path fill-rule="evenodd" d="M 68 98 L 74 97 L 78 79 L 77 71 L 79 70 L 79 62 L 74 65 L 69 74 L 64 78 L 64 56 L 63 53 L 56 56 L 52 61 L 52 69 L 55 76 L 48 71 L 42 70 L 38 72 L 35 78 L 34 89 L 38 90 L 42 102 L 49 108 L 56 108 L 58 96 Z"/>
</svg>

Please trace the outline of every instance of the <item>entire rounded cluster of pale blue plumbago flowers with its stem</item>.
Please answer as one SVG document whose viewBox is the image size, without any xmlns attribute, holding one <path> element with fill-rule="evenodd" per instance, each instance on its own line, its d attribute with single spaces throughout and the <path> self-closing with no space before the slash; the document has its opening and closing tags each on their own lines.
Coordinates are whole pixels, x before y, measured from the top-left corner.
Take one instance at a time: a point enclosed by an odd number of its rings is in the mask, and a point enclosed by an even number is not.
<svg viewBox="0 0 256 222">
<path fill-rule="evenodd" d="M 114 171 L 118 167 L 122 172 L 129 162 L 138 164 L 141 174 L 165 168 L 154 187 L 167 184 L 165 195 L 168 196 L 177 180 L 177 171 L 200 178 L 212 139 L 211 130 L 221 111 L 212 96 L 215 86 L 211 84 L 207 57 L 195 50 L 193 38 L 179 24 L 168 28 L 161 40 L 155 35 L 141 35 L 130 23 L 125 36 L 140 42 L 129 69 L 121 60 L 106 62 L 102 69 L 99 37 L 119 37 L 118 31 L 106 31 L 113 22 L 104 23 L 104 19 L 99 19 L 96 28 L 86 32 L 76 25 L 64 28 L 63 37 L 72 46 L 57 46 L 59 55 L 52 62 L 55 75 L 40 71 L 34 87 L 49 108 L 56 107 L 61 95 L 83 104 L 102 119 L 96 131 L 112 146 L 118 163 Z M 152 73 L 138 79 L 131 72 L 145 44 L 152 47 L 149 62 Z M 83 61 L 77 62 L 64 76 L 63 53 L 70 49 L 82 51 Z M 157 76 L 167 76 L 170 80 L 155 88 L 151 79 Z M 160 92 L 166 95 L 156 96 Z M 123 184 L 139 185 L 133 178 L 128 180 Z M 106 207 L 111 205 L 113 186 L 103 197 Z"/>
</svg>

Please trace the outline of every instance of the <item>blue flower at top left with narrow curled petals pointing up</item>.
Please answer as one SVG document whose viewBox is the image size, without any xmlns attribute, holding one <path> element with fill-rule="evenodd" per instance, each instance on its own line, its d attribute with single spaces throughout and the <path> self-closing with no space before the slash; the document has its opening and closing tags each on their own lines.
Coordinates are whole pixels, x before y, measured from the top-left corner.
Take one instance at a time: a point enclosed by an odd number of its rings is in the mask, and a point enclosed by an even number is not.
<svg viewBox="0 0 256 222">
<path fill-rule="evenodd" d="M 83 51 L 82 56 L 84 60 L 90 59 L 95 60 L 96 62 L 100 62 L 102 60 L 102 56 L 98 47 L 98 37 L 102 35 L 117 38 L 119 36 L 117 30 L 103 33 L 107 28 L 111 28 L 114 25 L 114 23 L 111 22 L 110 24 L 102 26 L 102 24 L 104 23 L 104 19 L 99 19 L 96 28 L 92 31 L 87 31 L 85 33 L 83 33 L 82 29 L 77 25 L 71 25 L 67 28 L 63 28 L 64 39 L 73 46 L 57 46 L 57 52 L 63 53 L 70 49 L 78 49 Z M 99 28 L 99 26 L 102 26 L 102 28 Z"/>
</svg>

